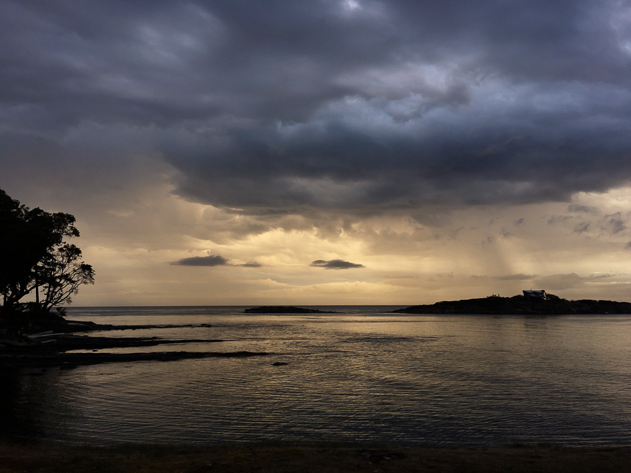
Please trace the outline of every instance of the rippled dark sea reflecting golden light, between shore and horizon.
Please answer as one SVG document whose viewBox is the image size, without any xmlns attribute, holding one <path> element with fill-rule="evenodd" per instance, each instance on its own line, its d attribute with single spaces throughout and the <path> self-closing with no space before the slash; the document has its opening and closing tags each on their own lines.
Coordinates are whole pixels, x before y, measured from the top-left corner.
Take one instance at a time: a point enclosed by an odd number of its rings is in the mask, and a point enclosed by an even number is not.
<svg viewBox="0 0 631 473">
<path fill-rule="evenodd" d="M 269 354 L 2 372 L 0 438 L 92 445 L 631 444 L 631 316 L 310 307 L 336 313 L 68 308 L 68 319 L 81 321 L 190 325 L 96 332 L 184 341 L 107 352 Z M 186 342 L 193 339 L 215 341 Z"/>
</svg>

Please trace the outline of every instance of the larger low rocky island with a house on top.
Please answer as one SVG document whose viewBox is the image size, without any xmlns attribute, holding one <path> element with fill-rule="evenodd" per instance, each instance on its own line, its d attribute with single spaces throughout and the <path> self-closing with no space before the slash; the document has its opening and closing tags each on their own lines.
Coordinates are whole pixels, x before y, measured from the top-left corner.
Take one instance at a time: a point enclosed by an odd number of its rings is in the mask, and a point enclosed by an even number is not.
<svg viewBox="0 0 631 473">
<path fill-rule="evenodd" d="M 399 314 L 498 314 L 498 315 L 562 315 L 562 314 L 631 314 L 631 303 L 581 299 L 568 301 L 543 291 L 536 295 L 525 294 L 480 299 L 442 301 L 434 304 L 412 305 L 398 309 Z"/>
</svg>

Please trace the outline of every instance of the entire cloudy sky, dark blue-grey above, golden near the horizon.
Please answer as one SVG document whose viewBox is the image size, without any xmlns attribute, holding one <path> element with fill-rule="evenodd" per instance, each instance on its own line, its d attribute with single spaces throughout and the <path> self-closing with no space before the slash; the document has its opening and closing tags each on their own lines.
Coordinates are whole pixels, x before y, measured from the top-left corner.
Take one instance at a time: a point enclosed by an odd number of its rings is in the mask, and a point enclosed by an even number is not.
<svg viewBox="0 0 631 473">
<path fill-rule="evenodd" d="M 75 305 L 631 300 L 631 2 L 0 3 L 0 188 Z"/>
</svg>

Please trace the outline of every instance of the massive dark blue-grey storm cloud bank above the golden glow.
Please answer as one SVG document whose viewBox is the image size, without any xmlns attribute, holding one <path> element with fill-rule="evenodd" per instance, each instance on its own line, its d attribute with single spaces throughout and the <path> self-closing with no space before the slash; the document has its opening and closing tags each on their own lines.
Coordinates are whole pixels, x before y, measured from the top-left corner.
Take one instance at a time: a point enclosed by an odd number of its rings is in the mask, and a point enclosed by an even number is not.
<svg viewBox="0 0 631 473">
<path fill-rule="evenodd" d="M 63 160 L 85 123 L 125 130 L 179 194 L 237 212 L 413 213 L 631 178 L 625 2 L 6 1 L 0 41 L 0 160 L 43 159 L 30 139 Z"/>
</svg>

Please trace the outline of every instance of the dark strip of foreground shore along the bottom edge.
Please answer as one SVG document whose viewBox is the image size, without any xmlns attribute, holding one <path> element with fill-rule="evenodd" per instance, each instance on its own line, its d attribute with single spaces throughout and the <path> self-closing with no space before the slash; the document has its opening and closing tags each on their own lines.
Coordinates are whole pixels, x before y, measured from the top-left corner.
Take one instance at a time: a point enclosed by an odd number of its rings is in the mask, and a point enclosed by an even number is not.
<svg viewBox="0 0 631 473">
<path fill-rule="evenodd" d="M 631 447 L 379 447 L 243 444 L 205 447 L 0 443 L 0 472 L 628 472 Z"/>
</svg>

